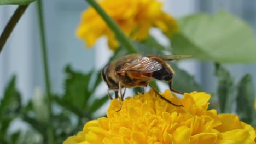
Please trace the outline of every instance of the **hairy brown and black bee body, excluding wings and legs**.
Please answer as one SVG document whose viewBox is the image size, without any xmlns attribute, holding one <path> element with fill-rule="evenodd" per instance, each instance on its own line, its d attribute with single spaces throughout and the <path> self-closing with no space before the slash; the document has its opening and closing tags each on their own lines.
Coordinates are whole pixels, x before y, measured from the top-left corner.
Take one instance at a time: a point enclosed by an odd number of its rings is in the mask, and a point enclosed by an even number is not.
<svg viewBox="0 0 256 144">
<path fill-rule="evenodd" d="M 156 62 L 161 64 L 162 68 L 149 73 L 118 73 L 124 64 L 130 63 L 134 59 L 141 58 L 141 55 L 132 54 L 120 57 L 113 61 L 111 64 L 107 65 L 102 71 L 102 77 L 104 81 L 107 82 L 108 87 L 118 87 L 119 82 L 123 85 L 122 87 L 132 88 L 132 87 L 146 87 L 150 80 L 158 79 L 164 81 L 170 81 L 174 74 L 170 65 L 168 65 L 161 58 L 156 56 L 147 56 L 149 59 L 154 59 Z"/>
</svg>

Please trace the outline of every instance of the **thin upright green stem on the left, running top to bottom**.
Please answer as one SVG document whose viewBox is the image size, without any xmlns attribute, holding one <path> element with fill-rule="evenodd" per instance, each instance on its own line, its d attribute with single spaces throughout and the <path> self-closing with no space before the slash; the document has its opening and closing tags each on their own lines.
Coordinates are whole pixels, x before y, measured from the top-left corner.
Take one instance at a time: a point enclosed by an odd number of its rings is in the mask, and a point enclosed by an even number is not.
<svg viewBox="0 0 256 144">
<path fill-rule="evenodd" d="M 44 21 L 43 21 L 43 8 L 42 8 L 42 1 L 37 1 L 37 12 L 38 12 L 38 19 L 39 19 L 39 29 L 40 29 L 40 41 L 41 41 L 41 49 L 42 49 L 42 57 L 43 57 L 43 67 L 44 67 L 44 78 L 45 78 L 45 87 L 47 93 L 47 104 L 48 104 L 48 124 L 47 124 L 47 143 L 53 144 L 54 143 L 54 133 L 53 127 L 51 125 L 51 84 L 49 78 L 49 69 L 48 69 L 48 56 L 47 56 L 47 48 L 45 42 L 45 31 L 44 31 Z"/>
</svg>

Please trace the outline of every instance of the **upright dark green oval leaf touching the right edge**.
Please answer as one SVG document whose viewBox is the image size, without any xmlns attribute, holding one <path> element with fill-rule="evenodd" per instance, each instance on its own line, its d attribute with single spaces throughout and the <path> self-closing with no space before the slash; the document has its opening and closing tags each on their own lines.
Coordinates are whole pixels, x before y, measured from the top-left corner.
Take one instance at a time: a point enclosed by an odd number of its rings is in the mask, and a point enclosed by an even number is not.
<svg viewBox="0 0 256 144">
<path fill-rule="evenodd" d="M 241 121 L 252 124 L 255 117 L 254 110 L 254 86 L 252 76 L 246 74 L 242 77 L 237 86 L 237 113 Z"/>
</svg>

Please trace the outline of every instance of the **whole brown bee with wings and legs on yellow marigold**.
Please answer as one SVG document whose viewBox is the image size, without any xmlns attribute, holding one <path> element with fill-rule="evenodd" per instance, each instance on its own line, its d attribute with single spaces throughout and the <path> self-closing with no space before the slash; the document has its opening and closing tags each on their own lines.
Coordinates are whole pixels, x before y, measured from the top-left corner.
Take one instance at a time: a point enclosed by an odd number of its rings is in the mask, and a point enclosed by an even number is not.
<svg viewBox="0 0 256 144">
<path fill-rule="evenodd" d="M 102 79 L 108 85 L 108 97 L 113 99 L 109 91 L 114 91 L 115 98 L 118 99 L 118 93 L 120 92 L 122 105 L 126 88 L 141 87 L 142 93 L 144 93 L 144 87 L 150 86 L 161 99 L 174 106 L 182 106 L 174 104 L 163 97 L 152 85 L 150 85 L 149 81 L 152 79 L 167 81 L 172 92 L 182 94 L 172 88 L 174 71 L 166 61 L 186 57 L 190 57 L 190 55 L 149 55 L 142 57 L 139 54 L 131 54 L 116 59 L 112 63 L 106 65 L 101 73 Z M 124 93 L 122 93 L 122 88 L 125 88 Z M 121 106 L 118 111 L 120 110 Z"/>
</svg>

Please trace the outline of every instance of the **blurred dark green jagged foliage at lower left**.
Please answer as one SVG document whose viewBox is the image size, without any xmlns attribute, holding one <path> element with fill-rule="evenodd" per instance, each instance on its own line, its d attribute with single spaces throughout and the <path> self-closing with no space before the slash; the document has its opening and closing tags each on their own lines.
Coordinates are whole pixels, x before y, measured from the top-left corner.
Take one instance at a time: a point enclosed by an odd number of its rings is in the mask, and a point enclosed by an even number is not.
<svg viewBox="0 0 256 144">
<path fill-rule="evenodd" d="M 48 123 L 53 124 L 55 142 L 62 143 L 68 136 L 82 130 L 84 123 L 97 118 L 94 113 L 109 100 L 107 95 L 95 95 L 96 88 L 102 81 L 100 72 L 92 70 L 83 74 L 68 65 L 65 73 L 65 93 L 53 95 L 53 105 L 61 109 L 61 112 L 53 112 L 50 122 L 45 95 L 36 89 L 28 104 L 21 105 L 21 96 L 15 88 L 15 77 L 10 80 L 0 105 L 1 143 L 45 143 L 45 127 Z M 92 76 L 94 74 L 96 75 Z M 21 118 L 30 125 L 26 133 L 8 132 L 10 123 L 16 118 Z M 25 136 L 30 140 L 25 139 Z"/>
</svg>

